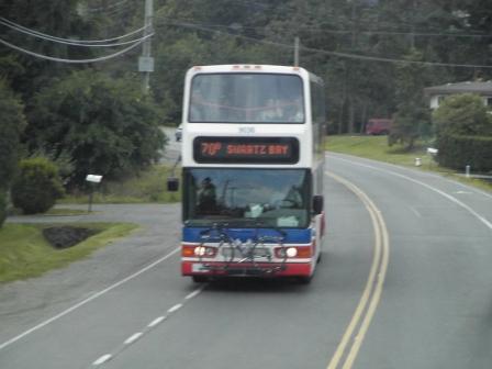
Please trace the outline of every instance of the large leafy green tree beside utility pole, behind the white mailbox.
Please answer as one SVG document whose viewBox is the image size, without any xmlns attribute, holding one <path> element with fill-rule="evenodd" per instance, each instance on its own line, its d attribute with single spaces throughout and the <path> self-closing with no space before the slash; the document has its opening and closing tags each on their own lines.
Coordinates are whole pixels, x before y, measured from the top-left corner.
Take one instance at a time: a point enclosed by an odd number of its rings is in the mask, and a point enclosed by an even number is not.
<svg viewBox="0 0 492 369">
<path fill-rule="evenodd" d="M 70 153 L 72 185 L 88 174 L 116 178 L 138 172 L 159 158 L 165 145 L 159 114 L 139 81 L 112 80 L 91 70 L 42 90 L 24 139 L 31 150 Z"/>
</svg>

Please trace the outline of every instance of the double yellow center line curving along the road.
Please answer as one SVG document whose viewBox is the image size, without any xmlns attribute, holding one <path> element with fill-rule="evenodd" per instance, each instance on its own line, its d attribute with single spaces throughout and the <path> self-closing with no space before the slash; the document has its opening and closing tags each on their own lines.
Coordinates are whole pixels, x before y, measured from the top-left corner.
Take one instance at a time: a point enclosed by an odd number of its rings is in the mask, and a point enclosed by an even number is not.
<svg viewBox="0 0 492 369">
<path fill-rule="evenodd" d="M 326 175 L 347 187 L 359 198 L 359 200 L 364 203 L 367 211 L 369 212 L 372 227 L 374 230 L 374 250 L 366 288 L 362 292 L 359 304 L 357 305 L 356 311 L 350 320 L 350 323 L 348 324 L 347 329 L 345 331 L 344 336 L 327 366 L 327 369 L 338 368 L 338 365 L 340 364 L 340 360 L 350 344 L 350 339 L 354 337 L 351 340 L 351 346 L 349 347 L 348 355 L 343 365 L 343 369 L 350 369 L 360 349 L 366 333 L 369 329 L 369 325 L 381 299 L 390 255 L 389 234 L 381 212 L 364 191 L 361 191 L 354 183 L 335 174 L 326 172 Z M 354 333 L 359 325 L 359 331 L 357 335 L 354 336 Z"/>
</svg>

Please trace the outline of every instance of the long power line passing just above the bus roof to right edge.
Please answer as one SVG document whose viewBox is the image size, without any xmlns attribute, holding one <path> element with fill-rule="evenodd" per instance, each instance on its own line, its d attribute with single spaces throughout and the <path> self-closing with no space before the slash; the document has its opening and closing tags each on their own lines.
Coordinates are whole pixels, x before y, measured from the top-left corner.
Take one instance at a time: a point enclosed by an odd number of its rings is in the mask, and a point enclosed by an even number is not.
<svg viewBox="0 0 492 369">
<path fill-rule="evenodd" d="M 200 25 L 197 25 L 193 23 L 167 22 L 166 24 L 190 27 L 190 29 L 205 31 L 205 32 L 215 32 L 215 33 L 227 35 L 227 36 L 248 40 L 248 41 L 260 43 L 260 44 L 293 49 L 293 46 L 290 44 L 283 44 L 283 43 L 273 42 L 273 41 L 269 41 L 269 40 L 258 40 L 255 37 L 232 34 L 232 33 L 219 31 L 219 30 L 211 30 L 211 29 L 203 27 L 203 26 L 200 26 Z M 415 64 L 415 65 L 425 65 L 425 66 L 429 66 L 429 67 L 492 68 L 492 66 L 487 66 L 487 65 L 417 62 L 417 60 L 405 60 L 405 59 L 395 59 L 395 58 L 387 58 L 387 57 L 367 56 L 367 55 L 360 55 L 360 54 L 329 52 L 329 51 L 325 51 L 325 49 L 306 47 L 306 46 L 301 46 L 300 48 L 303 51 L 306 51 L 306 52 L 312 52 L 312 53 L 318 53 L 318 54 L 324 54 L 324 55 L 329 55 L 329 56 L 335 56 L 335 57 L 340 57 L 340 58 L 348 58 L 348 59 L 367 60 L 367 62 L 381 62 L 381 63 L 393 63 L 393 64 Z"/>
</svg>

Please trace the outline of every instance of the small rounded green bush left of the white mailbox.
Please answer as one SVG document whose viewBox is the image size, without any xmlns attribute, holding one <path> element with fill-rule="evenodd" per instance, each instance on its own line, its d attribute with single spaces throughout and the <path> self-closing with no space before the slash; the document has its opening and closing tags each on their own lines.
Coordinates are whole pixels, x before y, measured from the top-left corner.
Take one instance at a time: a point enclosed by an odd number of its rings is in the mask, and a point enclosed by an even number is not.
<svg viewBox="0 0 492 369">
<path fill-rule="evenodd" d="M 12 203 L 25 214 L 44 213 L 64 193 L 57 167 L 46 158 L 29 158 L 19 165 L 12 185 Z"/>
</svg>

